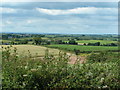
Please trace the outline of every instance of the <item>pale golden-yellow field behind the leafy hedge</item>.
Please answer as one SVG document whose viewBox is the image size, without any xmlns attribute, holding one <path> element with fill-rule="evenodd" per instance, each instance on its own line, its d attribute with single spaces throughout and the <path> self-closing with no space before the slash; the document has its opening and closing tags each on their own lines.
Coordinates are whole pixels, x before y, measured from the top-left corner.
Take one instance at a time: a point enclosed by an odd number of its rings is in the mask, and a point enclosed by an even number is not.
<svg viewBox="0 0 120 90">
<path fill-rule="evenodd" d="M 2 45 L 3 47 L 7 47 L 9 45 Z M 46 47 L 42 46 L 35 46 L 35 45 L 12 45 L 13 47 L 16 47 L 19 54 L 28 54 L 28 50 L 30 51 L 31 55 L 38 55 L 43 56 L 45 54 Z M 59 53 L 59 50 L 57 49 L 51 49 L 48 48 L 49 52 L 53 55 L 57 55 Z"/>
</svg>

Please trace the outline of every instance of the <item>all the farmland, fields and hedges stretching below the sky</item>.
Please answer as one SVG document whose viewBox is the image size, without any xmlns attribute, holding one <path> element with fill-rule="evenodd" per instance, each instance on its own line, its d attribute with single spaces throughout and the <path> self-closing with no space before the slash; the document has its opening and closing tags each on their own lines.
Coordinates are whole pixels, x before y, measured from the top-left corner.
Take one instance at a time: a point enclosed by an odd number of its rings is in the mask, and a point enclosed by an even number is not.
<svg viewBox="0 0 120 90">
<path fill-rule="evenodd" d="M 3 34 L 3 88 L 118 88 L 116 37 Z"/>
</svg>

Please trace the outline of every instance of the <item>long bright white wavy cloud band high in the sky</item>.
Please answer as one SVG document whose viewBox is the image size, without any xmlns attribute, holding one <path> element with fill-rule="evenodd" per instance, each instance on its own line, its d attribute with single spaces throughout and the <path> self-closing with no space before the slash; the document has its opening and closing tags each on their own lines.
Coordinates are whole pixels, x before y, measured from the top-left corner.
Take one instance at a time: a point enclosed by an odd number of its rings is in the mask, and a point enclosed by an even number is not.
<svg viewBox="0 0 120 90">
<path fill-rule="evenodd" d="M 95 14 L 95 13 L 113 13 L 113 11 L 117 11 L 117 8 L 95 8 L 95 7 L 81 7 L 67 10 L 60 9 L 44 9 L 44 8 L 36 8 L 40 13 L 45 13 L 49 15 L 66 15 L 66 14 Z"/>
</svg>

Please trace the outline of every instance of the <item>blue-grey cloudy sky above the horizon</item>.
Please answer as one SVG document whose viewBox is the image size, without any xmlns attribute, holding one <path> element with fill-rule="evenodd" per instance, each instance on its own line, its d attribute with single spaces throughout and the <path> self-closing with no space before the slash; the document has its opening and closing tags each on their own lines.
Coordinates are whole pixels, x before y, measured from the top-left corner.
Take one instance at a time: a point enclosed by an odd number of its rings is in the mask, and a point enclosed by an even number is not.
<svg viewBox="0 0 120 90">
<path fill-rule="evenodd" d="M 0 5 L 2 32 L 117 34 L 117 2 L 10 2 Z"/>
</svg>

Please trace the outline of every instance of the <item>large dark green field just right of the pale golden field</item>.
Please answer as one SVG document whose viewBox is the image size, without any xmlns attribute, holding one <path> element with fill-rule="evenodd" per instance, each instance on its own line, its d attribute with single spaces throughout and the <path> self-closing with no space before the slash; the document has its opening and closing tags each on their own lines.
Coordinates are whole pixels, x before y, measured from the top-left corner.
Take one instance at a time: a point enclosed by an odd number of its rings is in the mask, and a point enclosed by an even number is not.
<svg viewBox="0 0 120 90">
<path fill-rule="evenodd" d="M 47 47 L 58 48 L 67 51 L 73 51 L 74 49 L 80 51 L 118 50 L 118 47 L 112 47 L 112 46 L 48 45 Z"/>
</svg>

